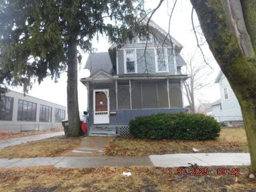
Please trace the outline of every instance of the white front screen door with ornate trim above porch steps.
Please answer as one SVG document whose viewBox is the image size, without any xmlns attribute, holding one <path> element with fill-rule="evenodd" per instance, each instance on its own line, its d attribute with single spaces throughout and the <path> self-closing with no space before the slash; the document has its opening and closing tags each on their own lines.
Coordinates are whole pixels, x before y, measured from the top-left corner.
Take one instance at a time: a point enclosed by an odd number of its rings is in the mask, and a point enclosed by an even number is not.
<svg viewBox="0 0 256 192">
<path fill-rule="evenodd" d="M 109 90 L 93 90 L 94 124 L 109 123 Z"/>
</svg>

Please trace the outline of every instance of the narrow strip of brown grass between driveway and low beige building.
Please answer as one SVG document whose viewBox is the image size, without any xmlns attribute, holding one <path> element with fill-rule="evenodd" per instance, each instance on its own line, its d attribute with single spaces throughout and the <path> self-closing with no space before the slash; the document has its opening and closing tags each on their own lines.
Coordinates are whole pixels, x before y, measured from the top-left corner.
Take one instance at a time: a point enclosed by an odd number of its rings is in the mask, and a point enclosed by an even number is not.
<svg viewBox="0 0 256 192">
<path fill-rule="evenodd" d="M 46 133 L 57 132 L 57 131 L 63 131 L 63 128 L 56 128 L 53 130 L 45 130 L 45 131 L 22 132 L 22 133 L 16 133 L 16 134 L 0 134 L 0 141 L 6 141 L 6 140 L 33 136 L 33 135 L 46 134 Z"/>
</svg>

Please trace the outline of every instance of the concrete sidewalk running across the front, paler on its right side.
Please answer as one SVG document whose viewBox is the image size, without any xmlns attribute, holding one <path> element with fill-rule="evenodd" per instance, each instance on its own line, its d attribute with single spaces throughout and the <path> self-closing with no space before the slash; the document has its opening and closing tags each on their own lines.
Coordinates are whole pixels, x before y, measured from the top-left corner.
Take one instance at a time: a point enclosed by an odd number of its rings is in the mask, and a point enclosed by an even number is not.
<svg viewBox="0 0 256 192">
<path fill-rule="evenodd" d="M 0 159 L 0 168 L 54 166 L 57 168 L 95 168 L 104 166 L 159 166 L 180 167 L 190 166 L 242 166 L 250 165 L 248 153 L 193 153 L 193 154 L 166 154 L 142 157 L 39 157 Z"/>
</svg>

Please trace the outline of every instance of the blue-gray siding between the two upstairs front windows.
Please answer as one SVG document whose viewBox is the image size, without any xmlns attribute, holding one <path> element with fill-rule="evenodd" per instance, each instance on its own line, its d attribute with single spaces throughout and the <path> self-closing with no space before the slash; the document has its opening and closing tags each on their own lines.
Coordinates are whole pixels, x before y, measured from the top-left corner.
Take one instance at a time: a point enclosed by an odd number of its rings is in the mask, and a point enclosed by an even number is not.
<svg viewBox="0 0 256 192">
<path fill-rule="evenodd" d="M 138 73 L 155 73 L 155 52 L 154 49 L 148 49 L 146 51 L 146 62 L 144 57 L 145 49 L 137 49 L 137 71 Z"/>
</svg>

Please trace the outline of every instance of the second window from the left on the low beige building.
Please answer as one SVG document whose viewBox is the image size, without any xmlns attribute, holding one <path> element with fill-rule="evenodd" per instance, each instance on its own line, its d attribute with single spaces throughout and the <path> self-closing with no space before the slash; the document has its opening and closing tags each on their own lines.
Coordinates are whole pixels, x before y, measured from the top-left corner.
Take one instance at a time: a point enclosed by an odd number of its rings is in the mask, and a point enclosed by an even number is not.
<svg viewBox="0 0 256 192">
<path fill-rule="evenodd" d="M 18 121 L 36 121 L 36 103 L 19 100 Z"/>
</svg>

